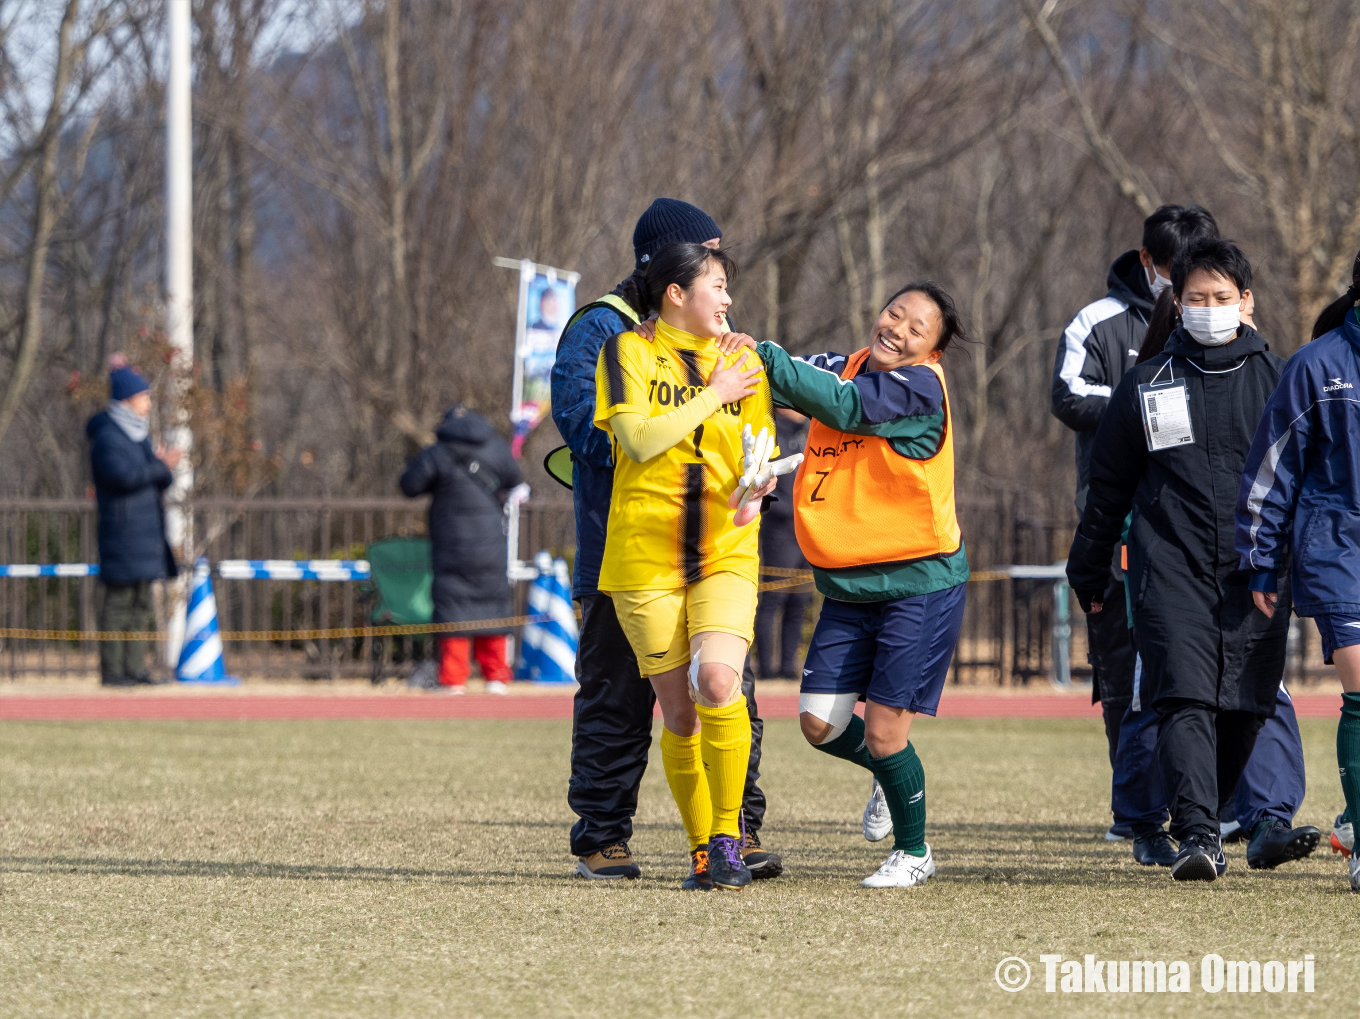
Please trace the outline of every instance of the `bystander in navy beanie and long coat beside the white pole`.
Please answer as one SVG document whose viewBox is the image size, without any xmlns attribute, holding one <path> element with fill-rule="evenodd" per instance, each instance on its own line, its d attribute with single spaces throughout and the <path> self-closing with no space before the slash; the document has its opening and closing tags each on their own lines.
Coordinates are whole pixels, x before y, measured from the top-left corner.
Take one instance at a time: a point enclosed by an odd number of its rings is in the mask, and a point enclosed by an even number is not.
<svg viewBox="0 0 1360 1019">
<path fill-rule="evenodd" d="M 174 577 L 174 552 L 166 540 L 162 492 L 180 450 L 152 449 L 151 386 L 136 369 L 109 373 L 109 407 L 90 419 L 90 468 L 99 503 L 101 630 L 151 630 L 151 582 Z M 101 641 L 99 682 L 136 686 L 147 672 L 146 641 Z"/>
</svg>

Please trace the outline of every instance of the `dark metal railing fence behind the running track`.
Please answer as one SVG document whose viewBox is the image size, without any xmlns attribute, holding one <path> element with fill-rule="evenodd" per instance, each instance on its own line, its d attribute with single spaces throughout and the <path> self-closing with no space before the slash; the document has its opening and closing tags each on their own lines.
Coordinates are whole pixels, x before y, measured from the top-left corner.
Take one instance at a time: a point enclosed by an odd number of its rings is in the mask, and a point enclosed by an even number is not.
<svg viewBox="0 0 1360 1019">
<path fill-rule="evenodd" d="M 953 682 L 1023 684 L 1057 672 L 1053 584 L 1044 580 L 987 578 L 1013 563 L 1049 565 L 1066 555 L 1074 521 L 1009 495 L 964 499 L 959 522 L 975 574 L 955 653 Z M 375 540 L 423 535 L 426 505 L 405 499 L 199 499 L 194 536 L 211 562 L 222 559 L 362 559 Z M 539 550 L 574 554 L 568 502 L 529 502 L 520 518 L 520 555 Z M 0 563 L 97 562 L 95 506 L 88 501 L 0 501 Z M 98 582 L 88 577 L 0 578 L 0 626 L 39 630 L 94 630 Z M 521 585 L 522 588 L 522 585 Z M 369 604 L 362 582 L 214 578 L 223 630 L 310 630 L 359 627 Z M 811 590 L 811 585 L 808 588 Z M 524 592 L 521 590 L 521 599 Z M 522 604 L 522 601 L 521 601 Z M 158 605 L 165 624 L 166 607 Z M 1089 679 L 1080 608 L 1068 608 L 1070 663 L 1077 680 Z M 1316 629 L 1295 620 L 1288 678 L 1326 675 Z M 811 623 L 809 623 L 811 627 Z M 332 679 L 369 675 L 363 638 L 234 641 L 227 667 L 242 676 Z M 401 671 L 427 656 L 430 641 L 403 638 L 389 657 Z M 11 679 L 90 676 L 98 668 L 91 641 L 7 639 L 0 661 Z"/>
</svg>

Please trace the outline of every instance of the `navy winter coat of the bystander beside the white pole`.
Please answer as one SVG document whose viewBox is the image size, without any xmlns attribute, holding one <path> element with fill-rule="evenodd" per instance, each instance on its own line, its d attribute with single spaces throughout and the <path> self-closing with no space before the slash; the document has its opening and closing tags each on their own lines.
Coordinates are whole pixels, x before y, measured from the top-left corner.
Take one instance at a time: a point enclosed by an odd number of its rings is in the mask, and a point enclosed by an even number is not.
<svg viewBox="0 0 1360 1019">
<path fill-rule="evenodd" d="M 133 442 L 101 411 L 86 424 L 99 505 L 99 580 L 114 586 L 174 577 L 160 492 L 174 478 L 151 439 Z"/>
</svg>

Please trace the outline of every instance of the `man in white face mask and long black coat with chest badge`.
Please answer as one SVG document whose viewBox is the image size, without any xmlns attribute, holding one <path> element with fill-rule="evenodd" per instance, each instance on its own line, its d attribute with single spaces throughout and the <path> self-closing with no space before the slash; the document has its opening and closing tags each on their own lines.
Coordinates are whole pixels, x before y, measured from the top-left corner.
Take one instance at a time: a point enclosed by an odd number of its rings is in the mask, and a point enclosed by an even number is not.
<svg viewBox="0 0 1360 1019">
<path fill-rule="evenodd" d="M 1174 313 L 1148 336 L 1170 329 L 1161 352 L 1125 373 L 1096 433 L 1068 580 L 1083 609 L 1107 609 L 1108 563 L 1132 510 L 1141 698 L 1157 713 L 1157 765 L 1180 843 L 1171 875 L 1214 880 L 1227 869 L 1220 789 L 1238 785 L 1284 673 L 1288 611 L 1254 611 L 1234 546 L 1238 484 L 1284 361 L 1242 321 L 1251 265 L 1236 245 L 1190 245 L 1171 280 Z M 1281 575 L 1281 605 L 1288 590 Z M 1288 823 L 1254 834 L 1248 864 L 1266 868 L 1307 856 L 1321 835 Z"/>
</svg>

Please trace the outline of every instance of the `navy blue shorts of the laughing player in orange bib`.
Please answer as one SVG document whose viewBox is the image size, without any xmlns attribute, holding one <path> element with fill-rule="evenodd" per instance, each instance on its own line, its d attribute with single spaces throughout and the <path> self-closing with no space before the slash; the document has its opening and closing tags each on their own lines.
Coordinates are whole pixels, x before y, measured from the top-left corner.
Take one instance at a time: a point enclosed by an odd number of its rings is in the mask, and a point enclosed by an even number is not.
<svg viewBox="0 0 1360 1019">
<path fill-rule="evenodd" d="M 892 601 L 827 599 L 802 669 L 805 694 L 864 694 L 934 714 L 963 626 L 964 588 Z"/>
</svg>

